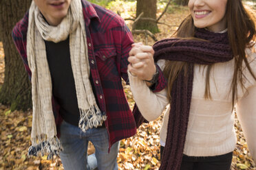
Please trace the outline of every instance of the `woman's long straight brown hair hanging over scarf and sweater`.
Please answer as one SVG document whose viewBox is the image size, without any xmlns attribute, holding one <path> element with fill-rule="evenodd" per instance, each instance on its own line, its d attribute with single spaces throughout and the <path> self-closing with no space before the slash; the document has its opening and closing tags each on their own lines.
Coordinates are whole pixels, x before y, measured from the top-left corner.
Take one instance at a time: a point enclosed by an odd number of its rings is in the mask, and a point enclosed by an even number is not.
<svg viewBox="0 0 256 170">
<path fill-rule="evenodd" d="M 235 97 L 237 97 L 237 80 L 242 84 L 242 63 L 246 64 L 248 71 L 256 80 L 253 71 L 250 69 L 248 60 L 246 58 L 246 48 L 253 47 L 253 41 L 255 41 L 256 31 L 255 31 L 255 16 L 253 12 L 249 12 L 248 9 L 244 8 L 241 0 L 228 0 L 226 4 L 226 22 L 228 27 L 228 40 L 233 51 L 233 56 L 235 58 L 235 69 L 233 80 L 231 84 L 232 89 L 232 100 L 233 106 L 235 103 Z M 184 21 L 180 24 L 178 30 L 173 34 L 174 37 L 185 38 L 185 39 L 195 39 L 195 26 L 193 24 L 193 18 L 191 14 L 187 16 Z M 206 70 L 206 87 L 204 92 L 205 98 L 211 99 L 210 93 L 210 71 L 212 65 L 207 66 Z M 171 101 L 171 87 L 176 77 L 180 71 L 184 69 L 186 73 L 187 63 L 177 62 L 177 61 L 167 61 L 164 67 L 164 76 L 168 79 L 168 98 Z"/>
</svg>

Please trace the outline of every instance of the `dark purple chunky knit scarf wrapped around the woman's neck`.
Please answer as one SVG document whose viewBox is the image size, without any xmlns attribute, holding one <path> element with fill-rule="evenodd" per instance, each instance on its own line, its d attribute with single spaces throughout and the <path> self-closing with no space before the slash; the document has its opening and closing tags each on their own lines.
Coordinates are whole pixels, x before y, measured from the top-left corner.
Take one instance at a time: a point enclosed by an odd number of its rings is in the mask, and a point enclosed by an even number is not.
<svg viewBox="0 0 256 170">
<path fill-rule="evenodd" d="M 184 70 L 180 72 L 171 89 L 171 110 L 160 170 L 180 170 L 189 122 L 194 64 L 214 64 L 233 59 L 227 32 L 214 33 L 196 28 L 195 38 L 208 41 L 171 38 L 153 45 L 156 61 L 182 61 L 189 67 L 186 76 Z"/>
</svg>

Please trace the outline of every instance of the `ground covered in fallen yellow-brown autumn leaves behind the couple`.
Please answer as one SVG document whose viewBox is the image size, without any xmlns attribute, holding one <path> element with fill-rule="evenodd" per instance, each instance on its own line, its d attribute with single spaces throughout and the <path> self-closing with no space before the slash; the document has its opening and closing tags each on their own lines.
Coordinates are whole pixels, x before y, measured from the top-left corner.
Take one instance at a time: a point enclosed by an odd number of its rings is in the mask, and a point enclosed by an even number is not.
<svg viewBox="0 0 256 170">
<path fill-rule="evenodd" d="M 130 2 L 132 3 L 132 2 Z M 120 4 L 122 5 L 122 4 Z M 117 11 L 113 5 L 109 8 Z M 131 7 L 134 4 L 131 4 Z M 164 4 L 163 4 L 164 5 Z M 129 7 L 129 6 L 128 6 Z M 175 5 L 169 8 L 168 13 L 165 14 L 161 22 L 173 25 L 159 25 L 160 33 L 156 34 L 158 40 L 171 36 L 173 31 L 177 29 L 182 19 L 189 13 L 187 8 L 178 7 Z M 161 8 L 158 5 L 158 8 Z M 131 18 L 135 16 L 133 8 L 119 8 L 123 18 Z M 159 11 L 160 12 L 160 11 Z M 131 22 L 127 25 L 131 28 Z M 136 42 L 146 42 L 144 35 L 134 35 Z M 149 45 L 153 45 L 153 40 L 148 38 Z M 3 84 L 4 72 L 4 53 L 3 45 L 0 42 L 0 86 Z M 124 84 L 125 93 L 131 108 L 134 106 L 134 100 L 129 90 L 129 86 Z M 121 141 L 120 151 L 118 154 L 118 167 L 119 169 L 158 169 L 160 166 L 160 144 L 159 144 L 159 131 L 162 122 L 162 117 L 156 121 L 148 124 L 143 124 L 138 129 L 135 136 Z M 30 146 L 30 132 L 32 125 L 32 112 L 14 111 L 10 112 L 8 106 L 0 104 L 0 170 L 5 169 L 63 169 L 60 158 L 53 160 L 46 160 L 45 156 L 41 158 L 28 158 L 27 151 Z M 237 119 L 235 121 L 235 130 L 237 132 L 237 147 L 233 154 L 232 168 L 238 169 L 254 169 L 256 165 L 250 157 L 247 144 L 242 133 L 241 126 Z M 94 147 L 90 145 L 88 153 L 92 154 Z"/>
</svg>

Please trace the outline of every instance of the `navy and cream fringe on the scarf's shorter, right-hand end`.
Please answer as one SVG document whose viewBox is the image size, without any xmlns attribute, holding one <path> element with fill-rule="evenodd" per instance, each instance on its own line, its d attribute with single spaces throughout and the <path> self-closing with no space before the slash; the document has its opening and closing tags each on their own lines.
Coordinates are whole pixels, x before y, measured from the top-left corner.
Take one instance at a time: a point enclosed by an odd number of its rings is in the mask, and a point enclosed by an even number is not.
<svg viewBox="0 0 256 170">
<path fill-rule="evenodd" d="M 95 106 L 91 106 L 89 110 L 80 109 L 80 120 L 78 127 L 86 132 L 88 129 L 103 125 L 103 121 L 107 120 L 105 112 L 100 112 Z"/>
</svg>

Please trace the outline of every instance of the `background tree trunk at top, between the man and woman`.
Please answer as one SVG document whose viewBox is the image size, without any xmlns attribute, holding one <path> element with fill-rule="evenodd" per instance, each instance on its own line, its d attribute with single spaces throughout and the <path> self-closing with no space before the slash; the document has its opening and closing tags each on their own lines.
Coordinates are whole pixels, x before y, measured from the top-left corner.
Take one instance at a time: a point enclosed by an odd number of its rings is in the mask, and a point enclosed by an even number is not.
<svg viewBox="0 0 256 170">
<path fill-rule="evenodd" d="M 156 19 L 156 0 L 137 0 L 136 17 L 141 12 L 143 12 L 141 18 Z M 156 21 L 150 20 L 139 20 L 135 29 L 148 29 L 152 33 L 159 32 Z"/>
</svg>

